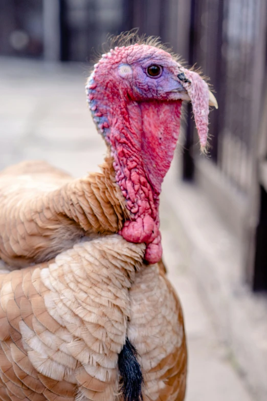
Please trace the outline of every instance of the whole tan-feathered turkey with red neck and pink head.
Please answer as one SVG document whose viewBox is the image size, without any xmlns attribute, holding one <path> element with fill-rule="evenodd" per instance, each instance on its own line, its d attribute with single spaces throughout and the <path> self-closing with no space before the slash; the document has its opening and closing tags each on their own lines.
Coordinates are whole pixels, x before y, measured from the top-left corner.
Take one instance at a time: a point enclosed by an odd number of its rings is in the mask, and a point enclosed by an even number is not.
<svg viewBox="0 0 267 401">
<path fill-rule="evenodd" d="M 0 255 L 23 267 L 0 275 L 0 399 L 182 401 L 186 341 L 159 264 L 159 196 L 182 100 L 203 148 L 216 100 L 153 39 L 103 54 L 86 92 L 108 148 L 102 173 L 73 180 L 26 162 L 0 176 Z"/>
</svg>

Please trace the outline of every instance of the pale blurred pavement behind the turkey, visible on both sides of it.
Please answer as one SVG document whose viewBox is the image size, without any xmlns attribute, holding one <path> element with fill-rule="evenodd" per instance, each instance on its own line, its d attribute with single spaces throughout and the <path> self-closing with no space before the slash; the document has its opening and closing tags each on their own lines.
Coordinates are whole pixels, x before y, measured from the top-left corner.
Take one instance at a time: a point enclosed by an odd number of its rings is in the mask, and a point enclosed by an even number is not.
<svg viewBox="0 0 267 401">
<path fill-rule="evenodd" d="M 80 65 L 44 66 L 0 58 L 1 169 L 25 159 L 45 159 L 77 177 L 98 168 L 105 145 L 86 106 L 87 70 Z M 185 313 L 189 350 L 186 400 L 257 401 L 248 393 L 229 349 L 218 341 L 199 298 L 189 262 L 179 248 L 179 227 L 167 195 L 161 205 L 161 231 L 169 279 Z"/>
</svg>

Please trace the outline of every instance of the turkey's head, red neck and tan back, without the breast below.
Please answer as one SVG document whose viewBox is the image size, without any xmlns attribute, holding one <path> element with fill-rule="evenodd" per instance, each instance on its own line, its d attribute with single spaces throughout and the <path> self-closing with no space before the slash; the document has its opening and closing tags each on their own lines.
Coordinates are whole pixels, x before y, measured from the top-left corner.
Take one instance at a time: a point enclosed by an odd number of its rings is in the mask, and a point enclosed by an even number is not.
<svg viewBox="0 0 267 401">
<path fill-rule="evenodd" d="M 133 46 L 104 54 L 86 85 L 108 147 L 102 174 L 73 180 L 34 161 L 0 173 L 0 257 L 11 266 L 49 260 L 85 235 L 118 231 L 146 242 L 149 262 L 160 259 L 159 194 L 179 134 L 182 99 L 191 97 L 202 147 L 208 102 L 217 105 L 206 82 L 157 41 Z"/>
</svg>

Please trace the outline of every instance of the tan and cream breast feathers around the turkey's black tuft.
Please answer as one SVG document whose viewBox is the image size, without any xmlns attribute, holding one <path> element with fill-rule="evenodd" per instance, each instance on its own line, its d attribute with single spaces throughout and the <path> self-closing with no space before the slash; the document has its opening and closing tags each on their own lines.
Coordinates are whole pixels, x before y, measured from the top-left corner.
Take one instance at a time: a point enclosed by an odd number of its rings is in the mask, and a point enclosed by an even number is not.
<svg viewBox="0 0 267 401">
<path fill-rule="evenodd" d="M 142 265 L 144 251 L 115 235 L 0 275 L 1 400 L 120 400 L 126 334 L 144 400 L 184 399 L 181 306 L 159 267 Z"/>
</svg>

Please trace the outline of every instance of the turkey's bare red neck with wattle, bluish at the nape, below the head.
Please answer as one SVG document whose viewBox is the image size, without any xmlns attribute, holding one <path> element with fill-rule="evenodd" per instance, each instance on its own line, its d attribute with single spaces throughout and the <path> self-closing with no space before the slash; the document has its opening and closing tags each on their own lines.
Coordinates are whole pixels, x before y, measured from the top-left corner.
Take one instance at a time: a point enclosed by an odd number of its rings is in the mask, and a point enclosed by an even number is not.
<svg viewBox="0 0 267 401">
<path fill-rule="evenodd" d="M 127 241 L 147 245 L 145 259 L 161 259 L 159 196 L 180 131 L 182 101 L 133 101 L 112 93 L 91 77 L 87 94 L 98 130 L 110 146 L 116 182 L 129 219 L 119 231 Z"/>
</svg>

